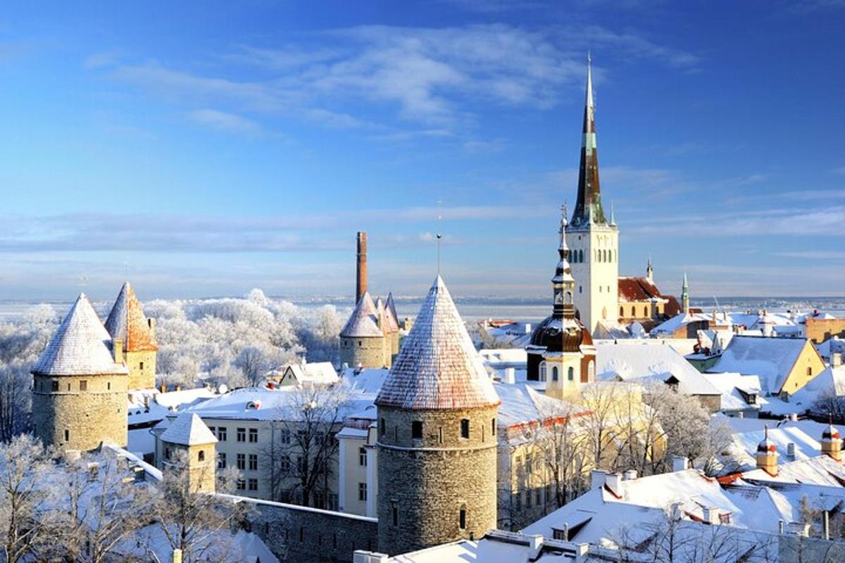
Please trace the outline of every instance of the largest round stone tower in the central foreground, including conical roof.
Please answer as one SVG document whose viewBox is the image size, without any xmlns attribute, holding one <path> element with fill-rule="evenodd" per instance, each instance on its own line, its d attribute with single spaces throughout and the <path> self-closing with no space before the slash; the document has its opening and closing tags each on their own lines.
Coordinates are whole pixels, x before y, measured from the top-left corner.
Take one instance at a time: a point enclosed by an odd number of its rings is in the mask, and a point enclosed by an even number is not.
<svg viewBox="0 0 845 563">
<path fill-rule="evenodd" d="M 495 528 L 499 397 L 439 276 L 375 403 L 379 550 Z"/>
</svg>

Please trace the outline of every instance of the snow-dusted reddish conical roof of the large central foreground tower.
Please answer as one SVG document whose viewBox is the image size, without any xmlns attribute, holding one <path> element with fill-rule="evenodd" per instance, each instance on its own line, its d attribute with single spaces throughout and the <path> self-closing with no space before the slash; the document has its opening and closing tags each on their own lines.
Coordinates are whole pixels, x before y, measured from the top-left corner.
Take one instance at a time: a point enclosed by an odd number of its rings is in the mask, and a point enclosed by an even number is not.
<svg viewBox="0 0 845 563">
<path fill-rule="evenodd" d="M 375 403 L 401 409 L 472 409 L 499 402 L 481 356 L 438 276 Z"/>
</svg>

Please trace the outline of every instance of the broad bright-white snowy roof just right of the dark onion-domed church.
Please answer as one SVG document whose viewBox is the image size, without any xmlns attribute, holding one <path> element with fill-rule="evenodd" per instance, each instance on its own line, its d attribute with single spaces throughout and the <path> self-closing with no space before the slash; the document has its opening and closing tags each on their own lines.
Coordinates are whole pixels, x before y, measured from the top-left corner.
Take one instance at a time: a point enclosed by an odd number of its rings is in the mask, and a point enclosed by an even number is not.
<svg viewBox="0 0 845 563">
<path fill-rule="evenodd" d="M 621 381 L 678 380 L 681 392 L 689 395 L 719 395 L 719 390 L 669 344 L 660 341 L 596 341 L 596 377 Z"/>
</svg>

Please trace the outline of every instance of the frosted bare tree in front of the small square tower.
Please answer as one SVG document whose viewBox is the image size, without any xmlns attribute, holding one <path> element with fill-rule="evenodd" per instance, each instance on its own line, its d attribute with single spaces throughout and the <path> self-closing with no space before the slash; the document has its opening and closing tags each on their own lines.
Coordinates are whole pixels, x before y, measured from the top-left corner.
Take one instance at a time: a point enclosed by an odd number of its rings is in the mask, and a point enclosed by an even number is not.
<svg viewBox="0 0 845 563">
<path fill-rule="evenodd" d="M 185 563 L 226 560 L 230 529 L 242 522 L 248 511 L 246 503 L 200 490 L 206 470 L 211 469 L 194 468 L 191 474 L 187 452 L 174 452 L 153 505 L 157 526 L 171 549 L 182 549 Z M 216 476 L 218 493 L 234 490 L 237 469 L 229 468 Z"/>
</svg>

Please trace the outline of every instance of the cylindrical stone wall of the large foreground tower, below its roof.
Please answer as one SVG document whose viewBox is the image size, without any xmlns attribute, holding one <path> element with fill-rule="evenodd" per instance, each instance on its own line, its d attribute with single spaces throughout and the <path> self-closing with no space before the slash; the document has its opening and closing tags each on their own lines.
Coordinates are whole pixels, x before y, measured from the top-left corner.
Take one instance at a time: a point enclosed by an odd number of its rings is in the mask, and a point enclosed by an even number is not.
<svg viewBox="0 0 845 563">
<path fill-rule="evenodd" d="M 379 551 L 478 539 L 496 527 L 496 410 L 379 407 Z M 461 437 L 463 419 L 469 438 Z M 422 438 L 412 437 L 414 421 L 423 423 Z"/>
</svg>

